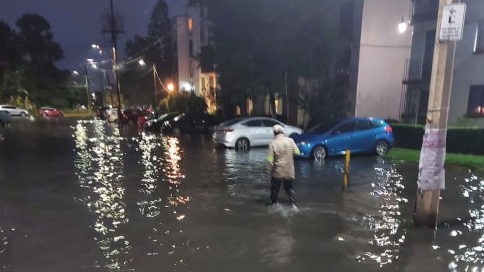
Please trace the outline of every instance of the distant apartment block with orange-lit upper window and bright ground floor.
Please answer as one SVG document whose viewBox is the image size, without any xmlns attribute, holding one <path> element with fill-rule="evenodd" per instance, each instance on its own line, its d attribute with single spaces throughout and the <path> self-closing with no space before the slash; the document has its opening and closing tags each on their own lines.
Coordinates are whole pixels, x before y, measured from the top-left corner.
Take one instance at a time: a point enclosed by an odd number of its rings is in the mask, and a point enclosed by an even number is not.
<svg viewBox="0 0 484 272">
<path fill-rule="evenodd" d="M 174 17 L 177 88 L 194 92 L 207 101 L 209 112 L 216 110 L 217 76 L 206 7 L 191 4 L 186 14 Z"/>
</svg>

